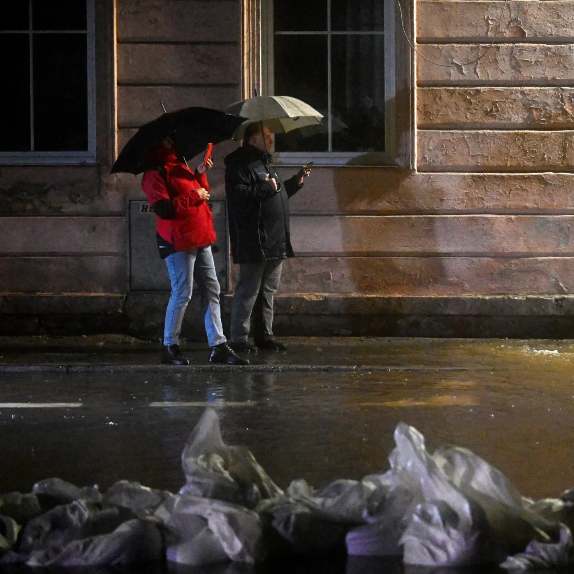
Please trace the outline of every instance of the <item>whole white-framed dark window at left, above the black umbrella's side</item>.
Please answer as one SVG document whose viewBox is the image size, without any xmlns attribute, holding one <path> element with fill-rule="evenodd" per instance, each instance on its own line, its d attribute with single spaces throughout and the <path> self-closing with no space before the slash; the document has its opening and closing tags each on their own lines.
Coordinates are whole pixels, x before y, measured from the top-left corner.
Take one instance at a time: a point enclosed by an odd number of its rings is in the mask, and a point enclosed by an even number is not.
<svg viewBox="0 0 574 574">
<path fill-rule="evenodd" d="M 94 0 L 18 0 L 0 22 L 0 161 L 95 161 Z"/>
</svg>

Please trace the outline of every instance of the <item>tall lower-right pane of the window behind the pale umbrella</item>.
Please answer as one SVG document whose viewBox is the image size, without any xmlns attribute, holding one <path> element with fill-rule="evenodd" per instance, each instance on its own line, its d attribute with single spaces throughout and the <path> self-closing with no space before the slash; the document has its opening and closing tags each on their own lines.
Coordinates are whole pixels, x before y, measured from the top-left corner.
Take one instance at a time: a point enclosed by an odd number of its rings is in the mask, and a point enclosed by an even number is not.
<svg viewBox="0 0 574 574">
<path fill-rule="evenodd" d="M 383 36 L 332 37 L 333 152 L 385 151 Z"/>
</svg>

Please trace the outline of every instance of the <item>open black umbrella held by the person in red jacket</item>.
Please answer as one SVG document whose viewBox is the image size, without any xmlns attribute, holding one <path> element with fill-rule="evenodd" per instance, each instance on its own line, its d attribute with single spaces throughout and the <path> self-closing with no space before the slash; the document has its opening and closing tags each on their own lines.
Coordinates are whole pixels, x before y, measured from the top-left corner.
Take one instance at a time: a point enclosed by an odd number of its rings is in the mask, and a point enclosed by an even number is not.
<svg viewBox="0 0 574 574">
<path fill-rule="evenodd" d="M 166 137 L 176 144 L 180 156 L 193 157 L 207 144 L 231 139 L 245 118 L 204 107 L 188 107 L 172 111 L 141 126 L 119 154 L 111 173 L 141 173 L 146 157 L 157 149 Z"/>
</svg>

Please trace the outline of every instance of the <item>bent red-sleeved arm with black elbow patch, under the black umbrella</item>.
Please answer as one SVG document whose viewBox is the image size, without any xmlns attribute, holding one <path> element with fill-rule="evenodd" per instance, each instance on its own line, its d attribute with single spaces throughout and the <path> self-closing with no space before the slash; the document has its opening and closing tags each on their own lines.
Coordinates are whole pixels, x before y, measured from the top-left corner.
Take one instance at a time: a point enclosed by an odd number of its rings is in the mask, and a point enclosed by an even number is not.
<svg viewBox="0 0 574 574">
<path fill-rule="evenodd" d="M 177 197 L 169 197 L 164 178 L 155 171 L 145 174 L 142 189 L 152 211 L 161 219 L 185 219 L 192 207 L 197 207 L 209 197 L 205 189 L 193 189 Z"/>
</svg>

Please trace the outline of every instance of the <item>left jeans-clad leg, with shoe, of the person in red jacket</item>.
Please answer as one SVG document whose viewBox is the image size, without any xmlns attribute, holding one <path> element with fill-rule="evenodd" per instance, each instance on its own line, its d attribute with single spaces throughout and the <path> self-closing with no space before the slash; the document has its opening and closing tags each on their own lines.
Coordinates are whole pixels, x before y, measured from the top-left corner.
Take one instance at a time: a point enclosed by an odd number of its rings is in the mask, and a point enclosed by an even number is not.
<svg viewBox="0 0 574 574">
<path fill-rule="evenodd" d="M 165 259 L 172 292 L 165 312 L 164 356 L 165 362 L 173 362 L 179 355 L 179 337 L 185 309 L 191 300 L 193 288 L 193 264 L 196 250 L 177 251 Z M 187 364 L 187 363 L 185 363 Z"/>
</svg>

